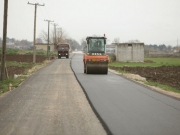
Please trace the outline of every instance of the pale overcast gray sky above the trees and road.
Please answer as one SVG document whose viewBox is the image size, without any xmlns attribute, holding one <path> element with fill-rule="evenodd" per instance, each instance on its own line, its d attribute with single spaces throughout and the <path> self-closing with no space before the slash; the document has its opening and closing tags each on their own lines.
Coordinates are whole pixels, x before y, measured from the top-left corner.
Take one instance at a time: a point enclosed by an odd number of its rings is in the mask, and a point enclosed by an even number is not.
<svg viewBox="0 0 180 135">
<path fill-rule="evenodd" d="M 34 6 L 28 1 L 45 4 L 37 8 L 37 37 L 50 19 L 78 42 L 105 33 L 109 43 L 119 38 L 172 46 L 179 39 L 180 44 L 180 0 L 9 0 L 8 37 L 33 41 Z M 0 0 L 1 33 L 3 10 Z"/>
</svg>

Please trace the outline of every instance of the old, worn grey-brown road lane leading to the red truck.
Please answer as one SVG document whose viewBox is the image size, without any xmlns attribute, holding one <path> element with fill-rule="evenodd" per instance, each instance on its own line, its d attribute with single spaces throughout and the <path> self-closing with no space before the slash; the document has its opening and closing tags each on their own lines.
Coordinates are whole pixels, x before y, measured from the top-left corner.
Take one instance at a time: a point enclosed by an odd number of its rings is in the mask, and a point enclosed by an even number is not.
<svg viewBox="0 0 180 135">
<path fill-rule="evenodd" d="M 105 135 L 71 59 L 56 59 L 0 97 L 0 135 Z"/>
</svg>

